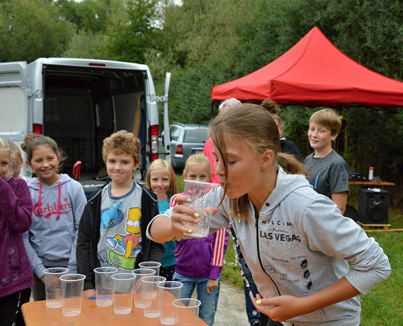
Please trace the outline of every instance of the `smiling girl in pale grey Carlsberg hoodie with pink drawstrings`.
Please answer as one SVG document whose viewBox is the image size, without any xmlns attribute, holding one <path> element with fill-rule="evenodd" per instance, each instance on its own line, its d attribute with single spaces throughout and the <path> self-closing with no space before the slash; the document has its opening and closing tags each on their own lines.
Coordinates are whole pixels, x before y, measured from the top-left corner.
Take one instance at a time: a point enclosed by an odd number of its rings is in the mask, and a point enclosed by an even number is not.
<svg viewBox="0 0 403 326">
<path fill-rule="evenodd" d="M 66 267 L 77 272 L 78 226 L 87 204 L 81 184 L 59 174 L 60 151 L 56 142 L 43 135 L 29 134 L 22 149 L 36 178 L 28 178 L 33 210 L 32 224 L 24 233 L 24 244 L 34 274 L 34 300 L 44 300 L 44 273 L 49 267 Z"/>
</svg>

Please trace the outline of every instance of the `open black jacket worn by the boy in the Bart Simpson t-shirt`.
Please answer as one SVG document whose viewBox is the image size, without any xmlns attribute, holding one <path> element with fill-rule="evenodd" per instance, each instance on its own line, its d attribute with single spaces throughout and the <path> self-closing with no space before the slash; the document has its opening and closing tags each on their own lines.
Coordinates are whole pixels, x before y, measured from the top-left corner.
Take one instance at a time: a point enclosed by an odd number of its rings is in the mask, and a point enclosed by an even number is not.
<svg viewBox="0 0 403 326">
<path fill-rule="evenodd" d="M 76 259 L 78 273 L 86 276 L 84 290 L 95 289 L 94 269 L 100 267 L 97 247 L 101 226 L 102 189 L 88 200 L 79 225 Z M 162 244 L 151 241 L 146 236 L 148 224 L 158 215 L 158 202 L 155 193 L 143 186 L 142 190 L 142 251 L 136 257 L 135 268 L 139 268 L 141 262 L 160 262 L 165 251 Z"/>
</svg>

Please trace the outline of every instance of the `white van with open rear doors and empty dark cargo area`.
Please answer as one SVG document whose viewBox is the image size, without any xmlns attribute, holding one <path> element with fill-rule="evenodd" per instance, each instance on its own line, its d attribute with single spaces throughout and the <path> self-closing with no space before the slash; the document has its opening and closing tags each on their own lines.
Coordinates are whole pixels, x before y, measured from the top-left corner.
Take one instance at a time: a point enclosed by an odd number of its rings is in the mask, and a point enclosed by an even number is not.
<svg viewBox="0 0 403 326">
<path fill-rule="evenodd" d="M 0 137 L 18 145 L 28 133 L 53 138 L 68 156 L 61 172 L 71 175 L 81 161 L 80 181 L 93 188 L 106 175 L 102 141 L 125 129 L 141 140 L 144 178 L 159 154 L 161 98 L 167 101 L 167 94 L 156 96 L 145 64 L 73 58 L 0 63 Z"/>
</svg>

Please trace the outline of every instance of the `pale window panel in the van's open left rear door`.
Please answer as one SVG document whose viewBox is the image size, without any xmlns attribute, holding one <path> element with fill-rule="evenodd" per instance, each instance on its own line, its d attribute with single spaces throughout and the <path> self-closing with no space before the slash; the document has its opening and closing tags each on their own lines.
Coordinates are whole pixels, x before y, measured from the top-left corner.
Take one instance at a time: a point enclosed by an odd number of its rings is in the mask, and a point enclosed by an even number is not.
<svg viewBox="0 0 403 326">
<path fill-rule="evenodd" d="M 25 122 L 25 94 L 21 87 L 1 87 L 1 131 L 21 131 Z"/>
</svg>

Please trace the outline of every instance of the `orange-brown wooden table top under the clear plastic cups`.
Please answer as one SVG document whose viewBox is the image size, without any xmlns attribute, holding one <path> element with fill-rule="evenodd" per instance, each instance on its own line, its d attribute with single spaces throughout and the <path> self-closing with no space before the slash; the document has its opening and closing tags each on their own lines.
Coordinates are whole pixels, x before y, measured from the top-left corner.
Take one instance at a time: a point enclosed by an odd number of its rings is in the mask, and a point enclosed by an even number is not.
<svg viewBox="0 0 403 326">
<path fill-rule="evenodd" d="M 83 298 L 81 314 L 74 317 L 66 317 L 61 313 L 61 308 L 47 308 L 46 301 L 31 301 L 23 304 L 22 313 L 27 326 L 159 326 L 160 318 L 146 318 L 143 309 L 134 305 L 131 312 L 126 315 L 117 315 L 113 312 L 113 305 L 98 307 L 95 300 Z M 198 318 L 198 326 L 207 326 Z"/>
</svg>

